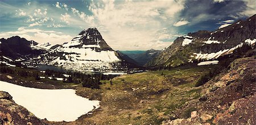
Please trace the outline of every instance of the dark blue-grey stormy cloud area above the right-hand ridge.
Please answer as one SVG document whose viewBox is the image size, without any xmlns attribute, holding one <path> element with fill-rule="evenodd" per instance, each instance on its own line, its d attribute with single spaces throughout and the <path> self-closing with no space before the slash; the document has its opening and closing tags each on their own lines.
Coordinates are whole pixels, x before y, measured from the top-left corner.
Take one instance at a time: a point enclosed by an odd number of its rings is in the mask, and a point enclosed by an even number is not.
<svg viewBox="0 0 256 125">
<path fill-rule="evenodd" d="M 196 32 L 204 29 L 214 31 L 220 26 L 220 21 L 247 18 L 240 13 L 246 9 L 244 1 L 191 1 L 185 2 L 185 8 L 180 13 L 180 17 L 190 22 L 187 27 L 180 27 L 184 33 Z"/>
</svg>

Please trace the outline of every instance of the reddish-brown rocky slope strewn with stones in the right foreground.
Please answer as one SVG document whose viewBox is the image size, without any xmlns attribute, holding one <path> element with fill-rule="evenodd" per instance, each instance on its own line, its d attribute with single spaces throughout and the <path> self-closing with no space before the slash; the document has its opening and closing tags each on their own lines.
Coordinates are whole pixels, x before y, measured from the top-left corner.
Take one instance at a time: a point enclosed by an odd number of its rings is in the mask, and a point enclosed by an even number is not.
<svg viewBox="0 0 256 125">
<path fill-rule="evenodd" d="M 204 96 L 175 111 L 179 118 L 185 109 L 195 107 L 197 117 L 192 118 L 192 112 L 191 118 L 164 124 L 256 124 L 255 64 L 254 57 L 236 59 L 227 72 L 201 86 Z"/>
</svg>

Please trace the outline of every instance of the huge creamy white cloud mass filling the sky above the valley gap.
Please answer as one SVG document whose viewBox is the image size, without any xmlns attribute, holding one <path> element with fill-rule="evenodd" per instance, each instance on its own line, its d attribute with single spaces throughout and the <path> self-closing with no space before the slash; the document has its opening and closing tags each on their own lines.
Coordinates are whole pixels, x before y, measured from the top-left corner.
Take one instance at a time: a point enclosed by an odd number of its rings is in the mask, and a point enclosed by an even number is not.
<svg viewBox="0 0 256 125">
<path fill-rule="evenodd" d="M 178 21 L 175 19 L 184 8 L 184 1 L 129 1 L 122 4 L 93 1 L 88 8 L 93 13 L 94 23 L 100 25 L 102 37 L 114 50 L 163 49 L 171 42 L 162 41 L 162 28 Z M 82 15 L 75 8 L 71 10 L 73 14 Z M 175 32 L 176 28 L 171 30 Z M 172 36 L 167 39 L 173 38 L 175 33 L 168 35 Z"/>
</svg>

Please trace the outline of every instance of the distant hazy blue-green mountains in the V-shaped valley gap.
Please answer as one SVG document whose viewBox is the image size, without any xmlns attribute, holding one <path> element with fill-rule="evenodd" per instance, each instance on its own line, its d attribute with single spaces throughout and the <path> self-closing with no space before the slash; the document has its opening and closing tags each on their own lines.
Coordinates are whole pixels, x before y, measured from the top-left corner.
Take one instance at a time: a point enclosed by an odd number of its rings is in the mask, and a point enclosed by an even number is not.
<svg viewBox="0 0 256 125">
<path fill-rule="evenodd" d="M 122 53 L 128 55 L 130 58 L 134 59 L 138 64 L 144 66 L 152 58 L 160 54 L 161 50 L 150 49 L 147 51 L 122 51 Z"/>
</svg>

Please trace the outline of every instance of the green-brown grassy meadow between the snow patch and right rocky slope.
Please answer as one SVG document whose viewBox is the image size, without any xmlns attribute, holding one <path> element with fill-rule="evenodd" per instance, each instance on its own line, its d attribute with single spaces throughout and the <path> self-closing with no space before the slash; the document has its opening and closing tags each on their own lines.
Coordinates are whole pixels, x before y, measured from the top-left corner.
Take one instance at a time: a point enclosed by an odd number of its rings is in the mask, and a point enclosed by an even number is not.
<svg viewBox="0 0 256 125">
<path fill-rule="evenodd" d="M 113 85 L 109 80 L 101 80 L 101 89 L 82 88 L 81 84 L 49 79 L 39 82 L 70 87 L 78 85 L 76 93 L 79 96 L 100 100 L 100 110 L 81 120 L 98 124 L 161 124 L 165 119 L 175 119 L 174 112 L 187 102 L 198 100 L 201 88 L 194 87 L 195 83 L 213 67 L 177 67 L 122 75 L 112 79 Z"/>
</svg>

